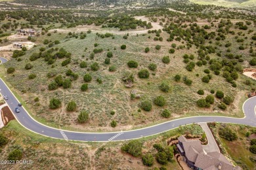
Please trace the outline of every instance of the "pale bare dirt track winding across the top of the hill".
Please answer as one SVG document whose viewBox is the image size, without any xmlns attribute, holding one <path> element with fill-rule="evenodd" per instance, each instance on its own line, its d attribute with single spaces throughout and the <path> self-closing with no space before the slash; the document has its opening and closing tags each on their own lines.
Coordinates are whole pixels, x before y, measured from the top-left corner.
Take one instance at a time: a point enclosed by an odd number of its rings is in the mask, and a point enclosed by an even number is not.
<svg viewBox="0 0 256 170">
<path fill-rule="evenodd" d="M 135 16 L 134 18 L 137 20 L 150 22 L 150 20 L 146 18 L 146 16 Z M 137 35 L 137 34 L 148 33 L 148 30 L 163 29 L 163 27 L 157 22 L 151 22 L 151 24 L 152 24 L 151 29 L 142 29 L 142 30 L 129 29 L 126 31 L 119 31 L 118 29 L 112 29 L 112 28 L 106 29 L 106 28 L 102 28 L 101 26 L 95 26 L 95 25 L 79 25 L 77 27 L 68 28 L 68 29 L 51 29 L 50 31 L 56 30 L 59 33 L 68 33 L 68 32 L 81 32 L 81 31 L 85 32 L 85 31 L 91 30 L 91 31 L 96 31 L 98 33 L 112 33 L 115 35 L 125 35 L 127 33 L 129 33 L 130 35 Z"/>
</svg>

